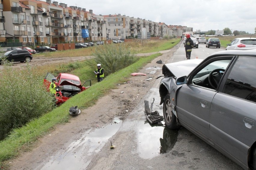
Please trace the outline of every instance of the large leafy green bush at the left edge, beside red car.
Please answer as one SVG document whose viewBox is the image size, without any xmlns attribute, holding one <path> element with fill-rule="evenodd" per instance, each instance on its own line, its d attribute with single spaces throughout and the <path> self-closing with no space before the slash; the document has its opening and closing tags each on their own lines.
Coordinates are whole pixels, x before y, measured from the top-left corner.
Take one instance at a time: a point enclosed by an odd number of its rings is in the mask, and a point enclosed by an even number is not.
<svg viewBox="0 0 256 170">
<path fill-rule="evenodd" d="M 31 67 L 12 69 L 4 62 L 0 71 L 0 140 L 13 128 L 52 110 L 53 96 L 45 90 L 42 78 L 32 73 Z"/>
</svg>

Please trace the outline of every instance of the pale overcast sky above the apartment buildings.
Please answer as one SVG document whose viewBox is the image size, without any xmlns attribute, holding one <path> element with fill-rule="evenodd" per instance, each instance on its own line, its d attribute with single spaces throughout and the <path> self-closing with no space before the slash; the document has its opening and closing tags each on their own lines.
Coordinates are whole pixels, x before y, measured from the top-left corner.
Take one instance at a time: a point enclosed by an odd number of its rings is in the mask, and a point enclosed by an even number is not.
<svg viewBox="0 0 256 170">
<path fill-rule="evenodd" d="M 246 31 L 254 34 L 256 0 L 52 0 L 93 10 L 96 15 L 118 14 L 193 27 L 193 31 Z"/>
</svg>

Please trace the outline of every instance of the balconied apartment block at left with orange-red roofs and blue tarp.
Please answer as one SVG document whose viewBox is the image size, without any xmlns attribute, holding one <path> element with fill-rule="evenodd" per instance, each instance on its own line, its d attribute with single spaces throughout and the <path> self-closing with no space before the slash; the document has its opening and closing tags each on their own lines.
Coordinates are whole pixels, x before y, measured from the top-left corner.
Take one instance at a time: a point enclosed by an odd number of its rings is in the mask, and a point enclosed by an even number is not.
<svg viewBox="0 0 256 170">
<path fill-rule="evenodd" d="M 85 8 L 51 0 L 5 0 L 0 10 L 1 42 L 13 39 L 24 44 L 52 44 L 106 39 L 104 17 Z M 86 39 L 81 35 L 83 28 L 89 31 Z"/>
</svg>

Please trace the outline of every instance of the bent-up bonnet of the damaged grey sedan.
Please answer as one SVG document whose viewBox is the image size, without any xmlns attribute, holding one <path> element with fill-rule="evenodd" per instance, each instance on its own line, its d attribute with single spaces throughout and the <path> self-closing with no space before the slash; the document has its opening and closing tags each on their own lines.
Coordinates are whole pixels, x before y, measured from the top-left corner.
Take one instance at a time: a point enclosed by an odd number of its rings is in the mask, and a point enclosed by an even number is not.
<svg viewBox="0 0 256 170">
<path fill-rule="evenodd" d="M 203 60 L 191 59 L 178 61 L 175 63 L 164 64 L 162 73 L 166 77 L 182 77 L 187 76 L 194 68 L 196 68 Z"/>
</svg>

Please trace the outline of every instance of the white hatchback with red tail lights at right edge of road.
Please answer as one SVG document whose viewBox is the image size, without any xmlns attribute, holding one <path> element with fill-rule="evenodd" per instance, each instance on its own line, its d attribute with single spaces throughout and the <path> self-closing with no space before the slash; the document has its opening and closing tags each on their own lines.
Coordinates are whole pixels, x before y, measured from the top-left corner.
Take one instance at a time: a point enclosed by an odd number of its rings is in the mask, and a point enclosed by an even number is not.
<svg viewBox="0 0 256 170">
<path fill-rule="evenodd" d="M 233 50 L 237 48 L 245 47 L 255 47 L 256 48 L 256 38 L 236 38 L 230 44 L 227 44 L 226 50 Z"/>
</svg>

